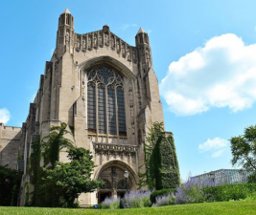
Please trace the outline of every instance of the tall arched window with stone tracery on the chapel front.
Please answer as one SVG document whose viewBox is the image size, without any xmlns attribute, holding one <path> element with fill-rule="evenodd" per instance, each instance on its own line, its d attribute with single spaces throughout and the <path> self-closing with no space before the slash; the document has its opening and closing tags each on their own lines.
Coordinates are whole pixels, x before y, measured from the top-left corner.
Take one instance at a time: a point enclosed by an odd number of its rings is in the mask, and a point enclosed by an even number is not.
<svg viewBox="0 0 256 215">
<path fill-rule="evenodd" d="M 127 136 L 123 76 L 105 66 L 85 73 L 89 133 Z"/>
</svg>

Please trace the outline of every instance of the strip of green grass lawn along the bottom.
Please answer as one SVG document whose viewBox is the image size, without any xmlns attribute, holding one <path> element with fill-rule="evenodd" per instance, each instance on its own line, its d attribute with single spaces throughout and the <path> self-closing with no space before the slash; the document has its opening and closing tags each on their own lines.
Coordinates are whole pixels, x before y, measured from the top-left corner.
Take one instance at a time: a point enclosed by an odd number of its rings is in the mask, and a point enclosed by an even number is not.
<svg viewBox="0 0 256 215">
<path fill-rule="evenodd" d="M 226 202 L 204 204 L 179 204 L 162 207 L 99 210 L 99 209 L 62 209 L 62 208 L 39 208 L 39 207 L 1 207 L 0 214 L 256 214 L 256 201 L 253 202 Z"/>
</svg>

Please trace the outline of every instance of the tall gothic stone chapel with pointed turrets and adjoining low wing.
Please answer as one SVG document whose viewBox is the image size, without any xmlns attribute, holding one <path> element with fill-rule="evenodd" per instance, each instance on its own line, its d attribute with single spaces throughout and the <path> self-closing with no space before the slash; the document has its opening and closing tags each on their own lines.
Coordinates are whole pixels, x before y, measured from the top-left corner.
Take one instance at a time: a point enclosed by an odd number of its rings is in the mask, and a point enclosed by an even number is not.
<svg viewBox="0 0 256 215">
<path fill-rule="evenodd" d="M 74 32 L 74 17 L 65 10 L 58 19 L 56 49 L 46 61 L 35 101 L 21 128 L 0 123 L 0 164 L 24 171 L 30 183 L 31 143 L 66 122 L 74 127 L 68 138 L 92 152 L 92 178 L 105 181 L 94 193 L 81 194 L 80 204 L 97 204 L 105 196 L 135 190 L 143 172 L 145 136 L 154 121 L 164 121 L 158 81 L 152 67 L 149 35 L 139 29 L 135 47 L 110 32 Z M 68 161 L 60 152 L 60 161 Z M 142 167 L 141 167 L 142 166 Z M 30 186 L 33 192 L 33 185 Z M 20 194 L 25 203 L 26 190 Z"/>
</svg>

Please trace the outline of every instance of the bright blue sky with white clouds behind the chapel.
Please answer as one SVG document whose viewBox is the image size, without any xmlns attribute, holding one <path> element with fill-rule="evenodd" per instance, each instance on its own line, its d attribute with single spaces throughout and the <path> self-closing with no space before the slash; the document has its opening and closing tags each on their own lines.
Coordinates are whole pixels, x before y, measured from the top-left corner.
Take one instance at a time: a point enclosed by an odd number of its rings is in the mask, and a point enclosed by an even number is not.
<svg viewBox="0 0 256 215">
<path fill-rule="evenodd" d="M 75 32 L 107 24 L 130 45 L 150 35 L 167 131 L 175 135 L 181 177 L 231 168 L 229 139 L 256 124 L 256 2 L 0 2 L 0 120 L 20 126 L 56 44 L 66 8 Z"/>
</svg>

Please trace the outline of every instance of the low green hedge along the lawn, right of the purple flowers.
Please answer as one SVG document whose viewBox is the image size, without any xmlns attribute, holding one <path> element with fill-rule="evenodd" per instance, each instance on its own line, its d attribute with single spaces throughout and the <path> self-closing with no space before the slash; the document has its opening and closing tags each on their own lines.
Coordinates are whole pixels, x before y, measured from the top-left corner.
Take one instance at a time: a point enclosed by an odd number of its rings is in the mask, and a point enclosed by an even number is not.
<svg viewBox="0 0 256 215">
<path fill-rule="evenodd" d="M 225 184 L 203 188 L 206 202 L 224 202 L 245 199 L 256 192 L 255 183 Z"/>
</svg>

